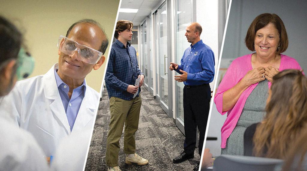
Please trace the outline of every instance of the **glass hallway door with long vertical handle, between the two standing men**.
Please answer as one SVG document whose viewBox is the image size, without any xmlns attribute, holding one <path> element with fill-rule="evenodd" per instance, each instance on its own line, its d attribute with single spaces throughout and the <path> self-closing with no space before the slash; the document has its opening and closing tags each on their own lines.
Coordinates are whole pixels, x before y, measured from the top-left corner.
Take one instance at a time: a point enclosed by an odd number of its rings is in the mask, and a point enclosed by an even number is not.
<svg viewBox="0 0 307 171">
<path fill-rule="evenodd" d="M 154 54 L 156 65 L 156 99 L 160 102 L 160 107 L 165 113 L 173 118 L 172 112 L 172 79 L 168 74 L 169 62 L 171 60 L 171 49 L 170 49 L 170 22 L 169 13 L 167 12 L 170 8 L 170 1 L 165 1 L 161 6 L 154 12 L 153 15 L 153 40 L 154 40 Z M 148 24 L 150 25 L 150 24 Z M 150 40 L 149 40 L 150 41 Z M 150 53 L 150 52 L 149 52 Z M 149 59 L 151 61 L 151 59 Z"/>
</svg>

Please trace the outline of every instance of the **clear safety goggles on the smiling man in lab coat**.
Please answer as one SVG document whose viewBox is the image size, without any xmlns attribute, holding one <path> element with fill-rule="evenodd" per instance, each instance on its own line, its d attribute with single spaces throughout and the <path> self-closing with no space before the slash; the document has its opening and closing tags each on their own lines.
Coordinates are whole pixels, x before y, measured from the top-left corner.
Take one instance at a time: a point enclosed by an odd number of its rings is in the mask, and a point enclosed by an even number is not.
<svg viewBox="0 0 307 171">
<path fill-rule="evenodd" d="M 59 37 L 57 48 L 66 55 L 71 55 L 77 51 L 80 60 L 88 64 L 96 64 L 103 55 L 102 52 L 88 46 L 81 45 L 78 42 L 64 36 Z"/>
</svg>

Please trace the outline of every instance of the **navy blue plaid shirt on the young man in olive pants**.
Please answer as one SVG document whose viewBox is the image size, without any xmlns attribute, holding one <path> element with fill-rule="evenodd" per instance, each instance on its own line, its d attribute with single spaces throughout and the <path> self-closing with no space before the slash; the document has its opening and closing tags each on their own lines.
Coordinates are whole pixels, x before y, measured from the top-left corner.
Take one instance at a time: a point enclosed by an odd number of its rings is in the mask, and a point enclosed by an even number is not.
<svg viewBox="0 0 307 171">
<path fill-rule="evenodd" d="M 123 100 L 133 99 L 127 92 L 128 85 L 134 85 L 139 75 L 144 75 L 138 68 L 136 50 L 127 42 L 126 47 L 118 39 L 112 44 L 106 72 L 106 87 L 109 98 L 118 97 Z M 138 93 L 141 91 L 139 88 Z M 139 95 L 137 95 L 138 97 Z"/>
</svg>

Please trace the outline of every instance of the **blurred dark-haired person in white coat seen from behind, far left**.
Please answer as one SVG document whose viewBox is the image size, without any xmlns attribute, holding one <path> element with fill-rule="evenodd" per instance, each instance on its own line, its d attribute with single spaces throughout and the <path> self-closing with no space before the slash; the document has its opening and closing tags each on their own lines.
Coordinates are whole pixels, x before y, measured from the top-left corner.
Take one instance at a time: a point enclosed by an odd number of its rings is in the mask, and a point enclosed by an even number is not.
<svg viewBox="0 0 307 171">
<path fill-rule="evenodd" d="M 21 73 L 22 35 L 0 16 L 0 103 Z M 18 69 L 17 69 L 18 68 Z M 48 170 L 47 161 L 34 137 L 0 115 L 0 170 Z"/>
</svg>

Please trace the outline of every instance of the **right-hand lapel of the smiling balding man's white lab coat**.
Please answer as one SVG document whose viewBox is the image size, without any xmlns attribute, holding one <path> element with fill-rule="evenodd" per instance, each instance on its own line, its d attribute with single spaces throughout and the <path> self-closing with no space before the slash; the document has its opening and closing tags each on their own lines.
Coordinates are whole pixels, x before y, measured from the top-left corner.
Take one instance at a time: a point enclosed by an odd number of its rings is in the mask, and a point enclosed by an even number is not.
<svg viewBox="0 0 307 171">
<path fill-rule="evenodd" d="M 95 99 L 95 95 L 92 94 L 92 90 L 87 86 L 84 98 L 82 100 L 74 127 L 72 131 L 83 130 L 87 124 L 93 119 L 97 111 L 98 99 Z M 95 119 L 92 120 L 95 122 Z"/>
</svg>

